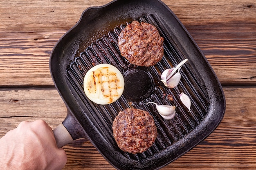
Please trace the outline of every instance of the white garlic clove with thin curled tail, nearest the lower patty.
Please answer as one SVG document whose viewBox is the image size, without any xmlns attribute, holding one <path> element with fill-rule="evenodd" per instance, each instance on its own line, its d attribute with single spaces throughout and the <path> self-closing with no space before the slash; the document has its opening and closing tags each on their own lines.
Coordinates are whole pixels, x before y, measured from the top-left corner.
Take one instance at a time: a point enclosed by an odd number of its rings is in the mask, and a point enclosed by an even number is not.
<svg viewBox="0 0 256 170">
<path fill-rule="evenodd" d="M 158 113 L 166 120 L 173 119 L 175 116 L 175 106 L 169 106 L 169 105 L 158 105 L 155 102 L 148 102 L 155 104 L 155 108 L 157 109 Z"/>
</svg>

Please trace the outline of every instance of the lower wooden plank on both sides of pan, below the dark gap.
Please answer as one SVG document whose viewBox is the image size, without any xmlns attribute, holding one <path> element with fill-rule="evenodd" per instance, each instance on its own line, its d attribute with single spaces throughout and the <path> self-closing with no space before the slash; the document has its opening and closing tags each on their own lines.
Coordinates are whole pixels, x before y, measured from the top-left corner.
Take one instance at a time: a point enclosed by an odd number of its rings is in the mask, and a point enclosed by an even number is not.
<svg viewBox="0 0 256 170">
<path fill-rule="evenodd" d="M 191 151 L 162 170 L 254 170 L 256 166 L 256 87 L 224 87 L 226 113 L 218 128 Z M 44 119 L 53 128 L 66 116 L 54 88 L 0 88 L 0 137 L 20 121 Z M 114 170 L 85 139 L 64 147 L 63 170 Z"/>
</svg>

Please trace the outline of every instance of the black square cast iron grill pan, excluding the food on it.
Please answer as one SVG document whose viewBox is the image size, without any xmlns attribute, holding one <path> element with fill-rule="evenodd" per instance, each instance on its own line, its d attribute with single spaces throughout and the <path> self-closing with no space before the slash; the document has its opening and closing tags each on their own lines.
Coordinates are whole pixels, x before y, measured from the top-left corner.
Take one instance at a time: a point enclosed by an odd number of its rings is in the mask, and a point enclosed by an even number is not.
<svg viewBox="0 0 256 170">
<path fill-rule="evenodd" d="M 118 35 L 133 20 L 155 25 L 164 38 L 164 57 L 155 66 L 136 67 L 120 55 Z M 180 70 L 180 84 L 166 88 L 160 81 L 161 73 L 185 58 L 189 61 Z M 91 102 L 83 91 L 85 73 L 101 63 L 116 66 L 129 80 L 125 93 L 109 105 Z M 209 136 L 225 113 L 225 97 L 213 69 L 182 23 L 160 0 L 115 0 L 86 9 L 79 22 L 58 41 L 49 64 L 68 110 L 64 126 L 73 139 L 88 138 L 117 169 L 165 166 Z M 144 85 L 137 86 L 136 82 Z M 191 99 L 191 112 L 179 100 L 182 92 Z M 174 101 L 168 100 L 168 95 L 173 95 Z M 146 104 L 151 101 L 175 105 L 175 117 L 164 120 L 153 105 Z M 155 144 L 141 154 L 120 150 L 112 134 L 116 115 L 129 107 L 148 111 L 157 126 Z"/>
</svg>

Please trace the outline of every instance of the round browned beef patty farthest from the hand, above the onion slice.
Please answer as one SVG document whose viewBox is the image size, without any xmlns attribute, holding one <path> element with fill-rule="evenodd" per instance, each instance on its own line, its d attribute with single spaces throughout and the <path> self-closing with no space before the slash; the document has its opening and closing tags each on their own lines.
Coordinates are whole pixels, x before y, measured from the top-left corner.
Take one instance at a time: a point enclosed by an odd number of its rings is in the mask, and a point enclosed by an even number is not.
<svg viewBox="0 0 256 170">
<path fill-rule="evenodd" d="M 118 46 L 121 55 L 136 66 L 153 66 L 164 55 L 163 41 L 155 26 L 133 21 L 121 31 Z"/>
</svg>

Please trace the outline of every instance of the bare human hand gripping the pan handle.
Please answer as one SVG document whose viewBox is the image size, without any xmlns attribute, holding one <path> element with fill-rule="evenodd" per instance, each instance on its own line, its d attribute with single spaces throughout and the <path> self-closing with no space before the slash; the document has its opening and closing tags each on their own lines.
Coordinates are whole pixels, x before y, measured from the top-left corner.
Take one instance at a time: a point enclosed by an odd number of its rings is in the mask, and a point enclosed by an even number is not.
<svg viewBox="0 0 256 170">
<path fill-rule="evenodd" d="M 1 170 L 61 170 L 67 155 L 43 120 L 22 121 L 0 139 Z"/>
</svg>

